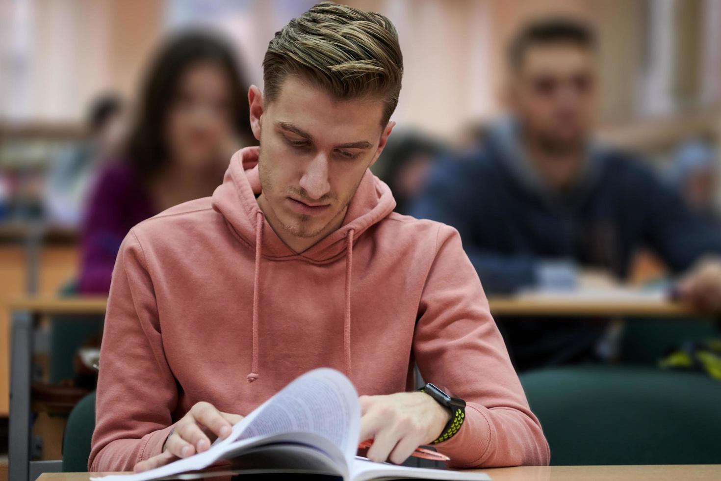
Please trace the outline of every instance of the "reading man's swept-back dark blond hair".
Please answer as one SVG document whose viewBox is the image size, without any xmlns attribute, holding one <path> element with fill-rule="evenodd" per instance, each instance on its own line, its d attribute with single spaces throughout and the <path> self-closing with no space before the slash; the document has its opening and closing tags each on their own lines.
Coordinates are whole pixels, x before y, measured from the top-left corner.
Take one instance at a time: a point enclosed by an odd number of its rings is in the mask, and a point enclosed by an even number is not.
<svg viewBox="0 0 721 481">
<path fill-rule="evenodd" d="M 383 100 L 386 125 L 403 76 L 398 33 L 381 14 L 322 1 L 270 40 L 263 58 L 267 102 L 278 97 L 288 75 L 302 76 L 340 100 Z"/>
</svg>

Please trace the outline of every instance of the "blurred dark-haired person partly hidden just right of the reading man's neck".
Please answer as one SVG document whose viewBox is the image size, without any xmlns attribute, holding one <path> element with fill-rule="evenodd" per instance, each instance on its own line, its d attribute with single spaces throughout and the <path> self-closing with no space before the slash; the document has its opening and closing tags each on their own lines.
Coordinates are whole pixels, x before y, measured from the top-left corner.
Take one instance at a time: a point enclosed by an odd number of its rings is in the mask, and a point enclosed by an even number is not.
<svg viewBox="0 0 721 481">
<path fill-rule="evenodd" d="M 415 130 L 399 129 L 388 138 L 371 170 L 391 188 L 394 211 L 408 213 L 410 200 L 420 193 L 433 163 L 445 150 L 441 141 Z"/>
</svg>

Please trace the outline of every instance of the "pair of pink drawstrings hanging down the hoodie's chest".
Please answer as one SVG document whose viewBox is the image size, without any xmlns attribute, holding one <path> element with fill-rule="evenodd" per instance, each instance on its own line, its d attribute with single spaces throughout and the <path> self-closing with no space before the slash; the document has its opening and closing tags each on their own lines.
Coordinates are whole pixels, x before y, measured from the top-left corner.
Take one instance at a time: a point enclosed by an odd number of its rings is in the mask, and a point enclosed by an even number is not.
<svg viewBox="0 0 721 481">
<path fill-rule="evenodd" d="M 258 379 L 258 296 L 260 294 L 260 257 L 263 239 L 263 213 L 258 211 L 255 216 L 255 275 L 253 278 L 253 325 L 252 325 L 252 352 L 251 367 L 248 382 Z M 343 315 L 343 357 L 345 361 L 345 375 L 350 377 L 350 278 L 353 273 L 353 234 L 355 230 L 348 229 L 346 237 L 347 249 L 345 256 L 345 312 Z"/>
</svg>

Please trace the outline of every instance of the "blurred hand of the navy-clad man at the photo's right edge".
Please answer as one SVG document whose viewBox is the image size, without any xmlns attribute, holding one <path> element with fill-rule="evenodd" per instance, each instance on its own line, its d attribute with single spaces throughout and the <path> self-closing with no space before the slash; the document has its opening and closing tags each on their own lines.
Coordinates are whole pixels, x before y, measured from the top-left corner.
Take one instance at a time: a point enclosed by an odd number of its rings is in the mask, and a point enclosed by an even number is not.
<svg viewBox="0 0 721 481">
<path fill-rule="evenodd" d="M 706 257 L 676 285 L 681 301 L 696 309 L 721 314 L 721 258 Z"/>
</svg>

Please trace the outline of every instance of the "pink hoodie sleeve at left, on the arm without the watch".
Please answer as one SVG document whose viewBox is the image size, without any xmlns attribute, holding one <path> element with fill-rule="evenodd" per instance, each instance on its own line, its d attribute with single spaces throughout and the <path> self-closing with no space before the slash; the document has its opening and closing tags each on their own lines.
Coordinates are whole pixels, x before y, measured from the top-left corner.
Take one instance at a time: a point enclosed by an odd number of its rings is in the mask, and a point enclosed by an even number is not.
<svg viewBox="0 0 721 481">
<path fill-rule="evenodd" d="M 153 283 L 133 230 L 112 272 L 100 349 L 90 471 L 131 471 L 160 454 L 178 400 Z"/>
</svg>

